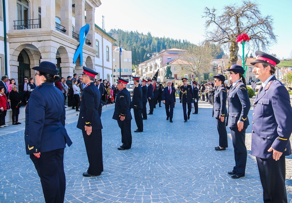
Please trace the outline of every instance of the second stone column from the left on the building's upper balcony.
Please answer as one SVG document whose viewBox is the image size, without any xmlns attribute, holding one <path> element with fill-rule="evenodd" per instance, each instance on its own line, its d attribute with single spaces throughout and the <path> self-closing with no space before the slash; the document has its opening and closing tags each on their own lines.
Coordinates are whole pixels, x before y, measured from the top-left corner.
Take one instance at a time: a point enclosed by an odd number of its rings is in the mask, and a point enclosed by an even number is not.
<svg viewBox="0 0 292 203">
<path fill-rule="evenodd" d="M 72 0 L 61 1 L 61 25 L 65 27 L 65 34 L 72 37 Z"/>
</svg>

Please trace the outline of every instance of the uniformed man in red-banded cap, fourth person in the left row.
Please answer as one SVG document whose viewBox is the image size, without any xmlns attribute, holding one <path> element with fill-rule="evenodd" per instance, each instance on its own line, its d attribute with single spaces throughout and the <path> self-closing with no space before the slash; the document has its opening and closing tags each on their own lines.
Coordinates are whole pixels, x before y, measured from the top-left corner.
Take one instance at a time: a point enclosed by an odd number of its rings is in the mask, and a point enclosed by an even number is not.
<svg viewBox="0 0 292 203">
<path fill-rule="evenodd" d="M 137 130 L 134 130 L 135 133 L 143 132 L 143 120 L 142 120 L 142 88 L 139 84 L 140 77 L 133 77 L 134 89 L 132 96 L 132 105 L 134 109 L 134 117 L 137 125 Z"/>
</svg>

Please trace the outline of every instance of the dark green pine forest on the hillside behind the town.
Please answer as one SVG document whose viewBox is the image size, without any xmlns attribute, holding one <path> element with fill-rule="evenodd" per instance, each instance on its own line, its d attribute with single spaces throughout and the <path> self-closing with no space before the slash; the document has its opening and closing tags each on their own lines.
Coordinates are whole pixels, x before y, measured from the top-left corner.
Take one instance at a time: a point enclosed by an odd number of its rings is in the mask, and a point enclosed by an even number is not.
<svg viewBox="0 0 292 203">
<path fill-rule="evenodd" d="M 138 31 L 124 31 L 121 29 L 111 29 L 108 32 L 113 38 L 117 41 L 113 43 L 114 46 L 119 46 L 119 40 L 121 40 L 121 47 L 124 50 L 132 51 L 132 64 L 135 64 L 135 61 L 140 63 L 140 60 L 146 61 L 150 57 L 147 57 L 148 53 L 160 52 L 161 50 L 178 48 L 187 50 L 195 44 L 190 43 L 187 40 L 177 40 L 173 38 L 166 37 L 153 37 L 150 32 L 146 35 L 143 33 L 138 33 Z M 218 48 L 214 46 L 214 58 L 220 59 L 224 55 L 223 50 L 220 48 L 220 53 L 218 54 Z M 215 54 L 216 53 L 216 54 Z M 217 56 L 215 56 L 217 55 Z"/>
</svg>

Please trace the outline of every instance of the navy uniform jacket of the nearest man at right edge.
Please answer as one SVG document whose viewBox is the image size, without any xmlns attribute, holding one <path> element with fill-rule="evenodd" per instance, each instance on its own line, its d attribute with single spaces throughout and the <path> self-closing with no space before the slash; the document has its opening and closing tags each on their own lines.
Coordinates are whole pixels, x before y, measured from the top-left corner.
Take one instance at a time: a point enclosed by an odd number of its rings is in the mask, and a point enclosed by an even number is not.
<svg viewBox="0 0 292 203">
<path fill-rule="evenodd" d="M 292 107 L 289 93 L 284 85 L 273 76 L 253 103 L 251 133 L 251 155 L 272 158 L 273 149 L 291 154 L 289 141 L 292 132 Z"/>
</svg>

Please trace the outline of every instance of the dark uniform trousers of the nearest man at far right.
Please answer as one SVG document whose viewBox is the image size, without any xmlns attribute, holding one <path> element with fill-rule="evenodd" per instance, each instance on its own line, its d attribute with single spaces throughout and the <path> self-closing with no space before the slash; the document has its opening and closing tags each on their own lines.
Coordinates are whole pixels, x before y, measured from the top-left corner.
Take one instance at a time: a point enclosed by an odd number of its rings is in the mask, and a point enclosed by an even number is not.
<svg viewBox="0 0 292 203">
<path fill-rule="evenodd" d="M 282 155 L 277 161 L 273 158 L 264 159 L 256 157 L 256 161 L 260 172 L 260 181 L 263 186 L 264 202 L 287 202 L 285 156 Z"/>
</svg>

